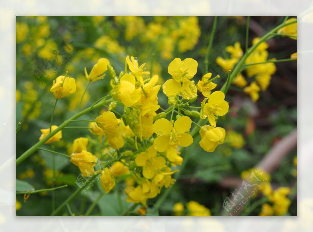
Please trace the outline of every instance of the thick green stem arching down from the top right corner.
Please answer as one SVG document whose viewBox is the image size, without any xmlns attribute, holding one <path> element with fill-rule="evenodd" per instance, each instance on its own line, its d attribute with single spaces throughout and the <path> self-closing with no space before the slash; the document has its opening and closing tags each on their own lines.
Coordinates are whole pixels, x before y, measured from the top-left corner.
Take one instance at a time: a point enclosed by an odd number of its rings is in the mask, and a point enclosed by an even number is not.
<svg viewBox="0 0 313 232">
<path fill-rule="evenodd" d="M 239 60 L 239 62 L 237 63 L 236 67 L 234 68 L 232 75 L 230 77 L 230 83 L 233 82 L 233 78 L 235 78 L 237 76 L 237 74 L 240 72 L 240 69 L 242 68 L 242 66 L 244 65 L 244 62 L 246 61 L 246 59 L 254 52 L 254 50 L 264 41 L 266 41 L 267 39 L 269 39 L 273 33 L 277 32 L 280 28 L 283 28 L 285 26 L 288 26 L 290 24 L 293 23 L 297 23 L 298 20 L 292 21 L 292 22 L 288 22 L 288 23 L 282 23 L 280 25 L 278 25 L 277 27 L 275 27 L 274 29 L 272 29 L 271 31 L 269 31 L 267 34 L 265 34 L 257 43 L 255 43 L 248 51 L 246 51 L 244 53 L 244 56 Z M 226 85 L 226 83 L 224 83 L 222 88 L 225 88 L 224 86 Z M 228 86 L 229 87 L 229 86 Z M 225 92 L 227 93 L 228 89 L 225 88 Z"/>
</svg>

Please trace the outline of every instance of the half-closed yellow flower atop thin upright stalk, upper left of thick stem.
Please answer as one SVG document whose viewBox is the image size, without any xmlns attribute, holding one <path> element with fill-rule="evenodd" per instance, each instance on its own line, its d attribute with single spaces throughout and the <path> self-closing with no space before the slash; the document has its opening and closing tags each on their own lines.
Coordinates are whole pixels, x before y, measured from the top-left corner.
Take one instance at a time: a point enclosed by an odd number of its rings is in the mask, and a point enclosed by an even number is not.
<svg viewBox="0 0 313 232">
<path fill-rule="evenodd" d="M 69 93 L 76 92 L 75 79 L 71 77 L 59 76 L 53 80 L 53 86 L 50 88 L 55 98 L 64 98 Z"/>
</svg>

